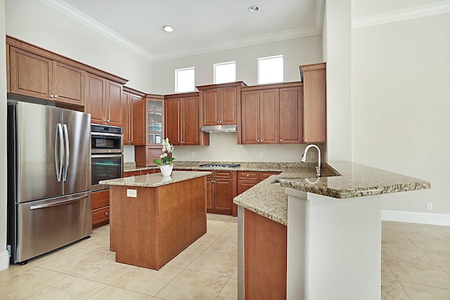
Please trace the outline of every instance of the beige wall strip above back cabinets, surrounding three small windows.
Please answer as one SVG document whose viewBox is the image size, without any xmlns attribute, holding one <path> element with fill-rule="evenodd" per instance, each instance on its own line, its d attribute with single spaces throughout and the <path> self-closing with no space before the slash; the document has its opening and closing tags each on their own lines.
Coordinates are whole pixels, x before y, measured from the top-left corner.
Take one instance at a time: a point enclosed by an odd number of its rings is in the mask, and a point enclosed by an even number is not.
<svg viewBox="0 0 450 300">
<path fill-rule="evenodd" d="M 283 54 L 284 81 L 300 80 L 300 65 L 322 62 L 321 35 L 276 41 L 196 56 L 158 60 L 152 65 L 152 92 L 174 93 L 175 70 L 195 67 L 195 85 L 214 84 L 213 65 L 236 60 L 236 80 L 257 84 L 257 58 Z"/>
</svg>

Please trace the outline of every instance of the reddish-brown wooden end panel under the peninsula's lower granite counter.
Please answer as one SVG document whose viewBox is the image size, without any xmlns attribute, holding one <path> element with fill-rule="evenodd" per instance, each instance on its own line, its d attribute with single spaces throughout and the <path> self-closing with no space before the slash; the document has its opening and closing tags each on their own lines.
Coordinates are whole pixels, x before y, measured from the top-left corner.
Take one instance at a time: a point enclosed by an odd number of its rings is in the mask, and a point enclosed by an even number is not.
<svg viewBox="0 0 450 300">
<path fill-rule="evenodd" d="M 244 209 L 244 236 L 245 299 L 286 299 L 287 227 Z"/>
</svg>

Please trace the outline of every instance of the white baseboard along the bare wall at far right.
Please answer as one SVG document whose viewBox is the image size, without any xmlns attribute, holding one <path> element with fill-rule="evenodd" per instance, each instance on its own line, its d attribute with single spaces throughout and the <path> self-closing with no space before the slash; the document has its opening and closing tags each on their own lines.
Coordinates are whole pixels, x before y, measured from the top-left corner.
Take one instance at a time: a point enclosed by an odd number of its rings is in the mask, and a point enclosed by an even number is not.
<svg viewBox="0 0 450 300">
<path fill-rule="evenodd" d="M 381 211 L 381 219 L 383 221 L 450 226 L 450 214 L 430 214 L 428 212 L 383 209 Z"/>
</svg>

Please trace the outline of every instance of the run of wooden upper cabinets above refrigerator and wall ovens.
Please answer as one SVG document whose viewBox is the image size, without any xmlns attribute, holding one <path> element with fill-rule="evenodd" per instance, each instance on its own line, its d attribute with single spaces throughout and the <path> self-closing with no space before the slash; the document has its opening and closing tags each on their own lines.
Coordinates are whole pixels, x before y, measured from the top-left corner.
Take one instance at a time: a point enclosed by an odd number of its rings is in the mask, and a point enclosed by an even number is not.
<svg viewBox="0 0 450 300">
<path fill-rule="evenodd" d="M 94 112 L 96 123 L 121 126 L 117 105 L 127 79 L 13 37 L 6 36 L 6 45 L 8 93 L 51 100 L 75 110 L 88 106 L 85 110 Z M 94 107 L 94 103 L 102 105 Z"/>
</svg>

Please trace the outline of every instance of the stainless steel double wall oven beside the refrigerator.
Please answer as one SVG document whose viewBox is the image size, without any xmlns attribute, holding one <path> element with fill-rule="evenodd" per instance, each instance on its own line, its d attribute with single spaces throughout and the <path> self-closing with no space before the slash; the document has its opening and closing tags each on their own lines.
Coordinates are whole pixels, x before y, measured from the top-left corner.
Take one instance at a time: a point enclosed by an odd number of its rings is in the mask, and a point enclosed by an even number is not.
<svg viewBox="0 0 450 300">
<path fill-rule="evenodd" d="M 122 127 L 91 124 L 92 190 L 106 190 L 99 181 L 122 178 L 124 142 Z"/>
</svg>

